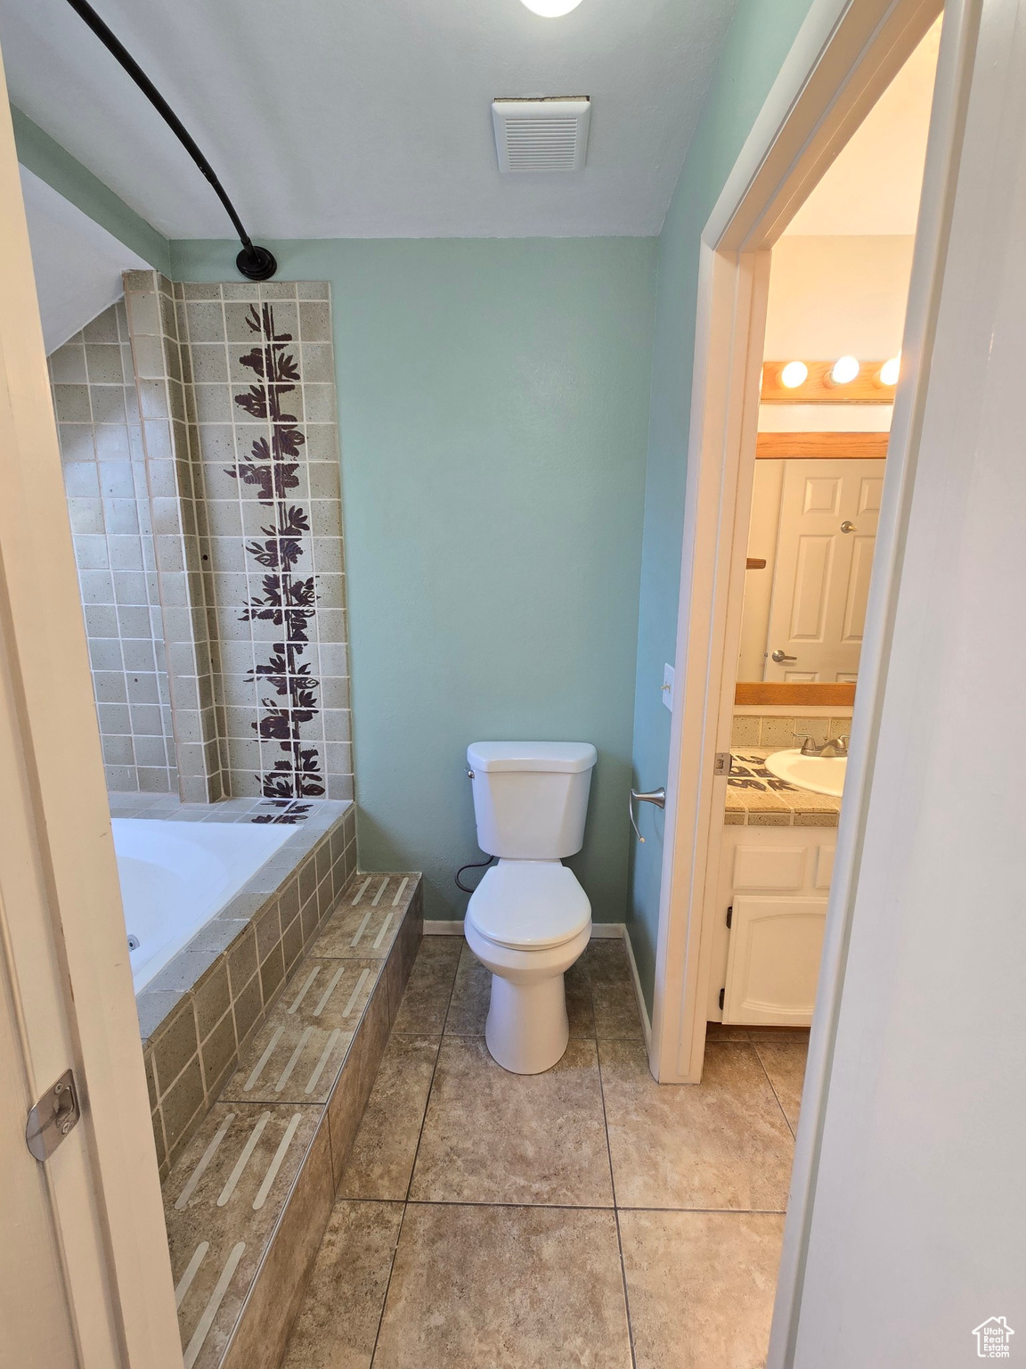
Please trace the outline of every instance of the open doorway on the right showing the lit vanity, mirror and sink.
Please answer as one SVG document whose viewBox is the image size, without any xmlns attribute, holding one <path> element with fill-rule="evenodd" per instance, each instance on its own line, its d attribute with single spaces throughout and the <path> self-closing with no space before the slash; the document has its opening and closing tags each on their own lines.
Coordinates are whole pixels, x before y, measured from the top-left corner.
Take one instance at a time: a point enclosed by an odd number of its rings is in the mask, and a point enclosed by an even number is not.
<svg viewBox="0 0 1026 1369">
<path fill-rule="evenodd" d="M 750 1029 L 793 1098 L 844 804 L 940 25 L 770 252 L 731 773 L 705 908 L 707 1031 Z M 799 1034 L 784 1043 L 782 1029 Z"/>
</svg>

